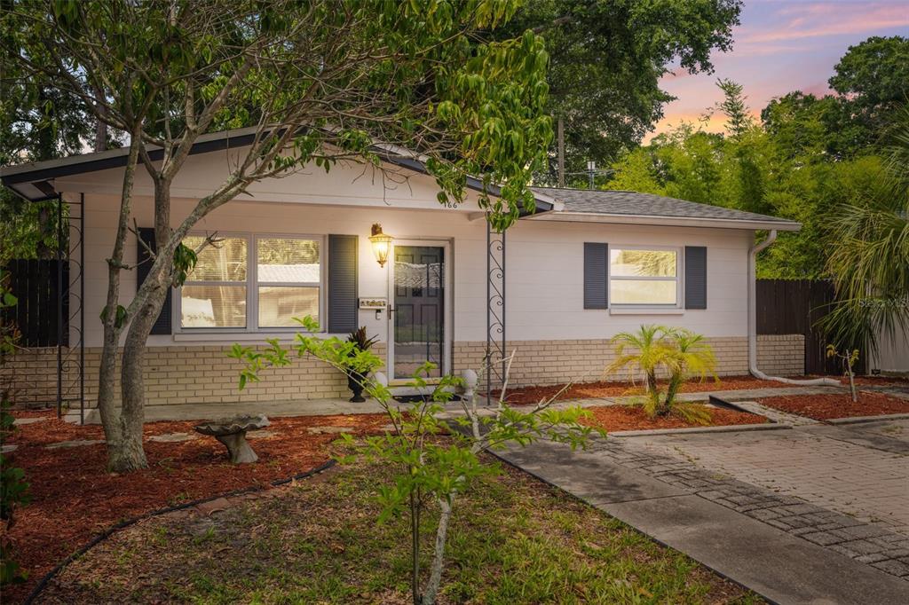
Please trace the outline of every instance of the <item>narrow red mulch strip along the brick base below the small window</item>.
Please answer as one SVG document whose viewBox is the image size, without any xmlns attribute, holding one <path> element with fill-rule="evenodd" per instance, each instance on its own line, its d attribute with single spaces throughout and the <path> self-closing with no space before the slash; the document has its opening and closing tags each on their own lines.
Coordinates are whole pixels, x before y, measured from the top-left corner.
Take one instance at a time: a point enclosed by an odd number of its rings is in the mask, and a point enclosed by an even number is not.
<svg viewBox="0 0 909 605">
<path fill-rule="evenodd" d="M 705 391 L 739 391 L 742 389 L 781 389 L 791 387 L 783 382 L 762 381 L 753 376 L 727 376 L 720 379 L 705 380 L 703 382 L 689 381 L 682 386 L 681 392 Z M 511 389 L 505 393 L 505 399 L 512 405 L 527 405 L 548 400 L 560 392 L 564 384 L 550 386 L 532 386 Z M 578 382 L 558 396 L 564 399 L 599 399 L 602 397 L 619 397 L 622 395 L 639 395 L 644 392 L 643 387 L 630 382 Z M 498 392 L 493 392 L 498 396 Z"/>
</svg>

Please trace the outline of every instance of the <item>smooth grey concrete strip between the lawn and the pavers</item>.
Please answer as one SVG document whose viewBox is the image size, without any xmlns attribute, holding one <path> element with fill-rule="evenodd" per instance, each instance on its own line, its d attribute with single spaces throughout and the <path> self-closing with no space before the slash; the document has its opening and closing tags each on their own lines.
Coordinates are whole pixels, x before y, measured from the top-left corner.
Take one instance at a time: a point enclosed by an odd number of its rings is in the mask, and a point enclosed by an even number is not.
<svg viewBox="0 0 909 605">
<path fill-rule="evenodd" d="M 781 604 L 909 603 L 909 582 L 620 464 L 549 441 L 499 455 Z"/>
</svg>

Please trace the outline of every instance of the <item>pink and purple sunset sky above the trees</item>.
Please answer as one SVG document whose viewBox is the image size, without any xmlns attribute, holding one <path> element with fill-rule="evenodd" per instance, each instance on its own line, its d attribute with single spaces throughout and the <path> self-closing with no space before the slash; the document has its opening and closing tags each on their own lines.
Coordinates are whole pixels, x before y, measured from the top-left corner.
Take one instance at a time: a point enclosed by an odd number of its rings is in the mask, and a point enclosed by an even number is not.
<svg viewBox="0 0 909 605">
<path fill-rule="evenodd" d="M 849 46 L 872 35 L 909 36 L 909 0 L 745 0 L 741 21 L 733 49 L 712 56 L 713 74 L 674 69 L 664 75 L 660 87 L 677 99 L 665 105 L 664 119 L 645 142 L 683 121 L 696 122 L 720 101 L 717 78 L 743 84 L 755 115 L 794 90 L 829 92 L 827 79 Z M 714 115 L 704 128 L 722 131 L 723 118 Z"/>
</svg>

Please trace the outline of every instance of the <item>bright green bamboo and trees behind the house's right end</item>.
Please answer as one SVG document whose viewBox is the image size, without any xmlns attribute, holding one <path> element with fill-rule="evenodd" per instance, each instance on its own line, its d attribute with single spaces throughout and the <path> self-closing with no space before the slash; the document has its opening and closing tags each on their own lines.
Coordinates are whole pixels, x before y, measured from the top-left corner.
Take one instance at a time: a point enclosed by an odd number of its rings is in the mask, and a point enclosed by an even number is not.
<svg viewBox="0 0 909 605">
<path fill-rule="evenodd" d="M 801 231 L 780 233 L 758 276 L 833 277 L 828 215 L 892 182 L 874 142 L 898 121 L 906 45 L 894 36 L 850 48 L 830 81 L 836 94 L 785 94 L 764 107 L 760 124 L 750 123 L 741 87 L 721 80 L 724 101 L 713 111 L 725 114 L 724 133 L 682 124 L 625 153 L 604 186 L 792 219 Z"/>
</svg>

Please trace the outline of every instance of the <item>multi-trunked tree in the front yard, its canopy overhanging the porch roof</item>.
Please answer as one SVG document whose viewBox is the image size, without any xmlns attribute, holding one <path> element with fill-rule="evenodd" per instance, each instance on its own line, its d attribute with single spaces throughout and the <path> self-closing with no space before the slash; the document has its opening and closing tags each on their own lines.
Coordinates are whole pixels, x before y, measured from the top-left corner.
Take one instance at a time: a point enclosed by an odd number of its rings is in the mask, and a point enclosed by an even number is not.
<svg viewBox="0 0 909 605">
<path fill-rule="evenodd" d="M 388 149 L 421 154 L 441 203 L 459 203 L 467 174 L 501 183 L 481 195 L 503 229 L 533 203 L 527 188 L 544 161 L 547 55 L 532 32 L 478 42 L 514 14 L 497 0 L 21 0 L 2 18 L 8 57 L 53 82 L 125 134 L 119 221 L 101 321 L 98 407 L 113 471 L 146 465 L 142 446 L 145 341 L 167 290 L 197 251 L 185 235 L 257 180 L 315 163 L 382 163 Z M 170 184 L 201 134 L 254 124 L 231 173 L 185 216 L 172 216 Z M 394 147 L 389 147 L 393 145 Z M 153 161 L 151 149 L 163 150 Z M 156 253 L 121 306 L 136 170 L 155 188 Z M 125 332 L 122 407 L 116 353 Z"/>
</svg>

